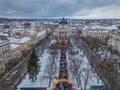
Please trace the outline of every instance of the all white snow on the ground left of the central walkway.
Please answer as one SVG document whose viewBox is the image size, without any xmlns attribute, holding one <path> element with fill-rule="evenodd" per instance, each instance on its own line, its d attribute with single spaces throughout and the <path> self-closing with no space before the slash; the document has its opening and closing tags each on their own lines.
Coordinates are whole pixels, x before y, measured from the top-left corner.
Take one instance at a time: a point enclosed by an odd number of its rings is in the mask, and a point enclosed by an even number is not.
<svg viewBox="0 0 120 90">
<path fill-rule="evenodd" d="M 59 75 L 59 57 L 60 57 L 60 52 L 58 53 L 58 55 L 56 56 L 56 64 L 58 67 L 57 73 L 56 75 Z M 46 64 L 48 62 L 50 58 L 50 54 L 48 53 L 48 50 L 45 50 L 44 53 L 39 57 L 39 63 L 41 63 L 41 67 L 40 67 L 40 71 L 38 76 L 37 76 L 37 80 L 35 82 L 31 82 L 29 80 L 29 75 L 27 74 L 25 76 L 25 78 L 22 80 L 22 82 L 18 85 L 18 90 L 20 89 L 20 87 L 47 87 L 48 90 L 50 90 L 53 87 L 53 82 L 55 80 L 55 78 L 53 78 L 52 82 L 51 82 L 51 87 L 48 88 L 48 83 L 45 81 L 42 81 L 42 76 L 44 74 L 44 70 L 46 67 Z"/>
</svg>

